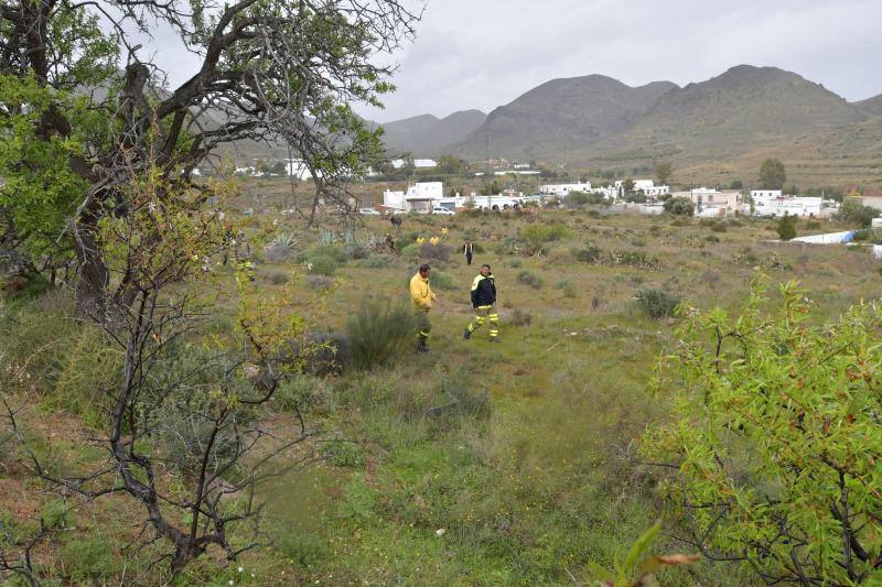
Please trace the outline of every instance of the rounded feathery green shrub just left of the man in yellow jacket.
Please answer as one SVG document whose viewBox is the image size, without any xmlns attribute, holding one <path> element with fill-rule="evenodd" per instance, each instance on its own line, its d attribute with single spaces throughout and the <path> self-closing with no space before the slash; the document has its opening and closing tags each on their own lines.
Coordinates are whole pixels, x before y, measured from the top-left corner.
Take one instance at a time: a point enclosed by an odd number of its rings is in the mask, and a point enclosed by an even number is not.
<svg viewBox="0 0 882 587">
<path fill-rule="evenodd" d="M 390 365 L 415 341 L 417 317 L 413 308 L 389 300 L 362 304 L 346 323 L 353 363 L 358 369 Z"/>
</svg>

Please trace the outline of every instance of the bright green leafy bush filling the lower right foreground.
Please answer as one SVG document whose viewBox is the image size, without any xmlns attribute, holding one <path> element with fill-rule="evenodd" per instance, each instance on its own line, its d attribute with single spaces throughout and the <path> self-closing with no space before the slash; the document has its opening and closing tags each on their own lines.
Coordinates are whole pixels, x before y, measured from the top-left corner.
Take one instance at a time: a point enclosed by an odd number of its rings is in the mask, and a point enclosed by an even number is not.
<svg viewBox="0 0 882 587">
<path fill-rule="evenodd" d="M 882 584 L 882 307 L 824 324 L 795 282 L 773 301 L 766 282 L 734 316 L 684 313 L 654 382 L 675 417 L 642 456 L 669 464 L 658 489 L 698 546 L 756 583 Z"/>
</svg>

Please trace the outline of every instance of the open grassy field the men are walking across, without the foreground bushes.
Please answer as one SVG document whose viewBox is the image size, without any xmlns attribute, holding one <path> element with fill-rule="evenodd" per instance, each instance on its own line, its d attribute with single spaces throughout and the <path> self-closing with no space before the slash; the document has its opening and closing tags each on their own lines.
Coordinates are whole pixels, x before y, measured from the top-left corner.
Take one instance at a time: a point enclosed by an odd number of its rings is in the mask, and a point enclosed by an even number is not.
<svg viewBox="0 0 882 587">
<path fill-rule="evenodd" d="M 390 231 L 385 218 L 364 220 L 351 235 L 356 242 L 380 241 Z M 281 256 L 255 248 L 254 287 L 269 295 L 293 284 L 295 302 L 314 312 L 308 301 L 329 283 L 306 263 L 327 247 L 345 251 L 344 236 L 305 230 L 276 213 L 248 222 L 297 241 Z M 839 228 L 802 224 L 798 230 Z M 820 319 L 879 291 L 879 262 L 865 250 L 770 243 L 774 224 L 763 220 L 530 210 L 408 216 L 395 236 L 396 254 L 352 249 L 310 319 L 318 329 L 343 330 L 372 298 L 406 301 L 407 281 L 424 259 L 411 242 L 438 236 L 441 244 L 430 251 L 437 259 L 428 261 L 439 295 L 431 352 L 406 352 L 367 371 L 302 374 L 280 390 L 265 417 L 283 434 L 294 424 L 286 399 L 305 395 L 325 458 L 262 486 L 267 545 L 246 554 L 241 570 L 223 568 L 212 553 L 181 583 L 589 583 L 590 562 L 611 566 L 664 515 L 652 469 L 636 465 L 630 448 L 648 423 L 667 415 L 646 387 L 657 357 L 675 341 L 678 318 L 647 315 L 637 292 L 732 309 L 763 267 L 776 282 L 800 281 Z M 465 238 L 480 246 L 472 267 L 458 254 Z M 321 239 L 329 242 L 316 249 Z M 499 345 L 487 341 L 486 330 L 462 338 L 481 263 L 496 278 Z M 232 270 L 216 271 L 232 287 Z M 227 328 L 232 312 L 219 304 L 211 329 Z M 31 392 L 18 398 L 24 432 L 60 469 L 100 458 L 82 439 L 100 418 L 94 390 L 117 360 L 69 313 L 69 297 L 50 292 L 4 301 L 0 318 L 0 348 L 34 357 Z M 0 430 L 4 441 L 0 520 L 39 517 L 54 498 L 29 479 L 22 455 Z M 39 551 L 43 568 L 60 584 L 162 583 L 162 569 L 147 564 L 159 545 L 136 554 L 125 548 L 138 534 L 138 514 L 122 497 L 74 512 L 60 522 L 67 530 Z M 677 521 L 667 520 L 667 528 L 656 550 L 688 551 L 670 537 Z M 708 562 L 662 579 L 753 583 L 744 569 Z"/>
</svg>

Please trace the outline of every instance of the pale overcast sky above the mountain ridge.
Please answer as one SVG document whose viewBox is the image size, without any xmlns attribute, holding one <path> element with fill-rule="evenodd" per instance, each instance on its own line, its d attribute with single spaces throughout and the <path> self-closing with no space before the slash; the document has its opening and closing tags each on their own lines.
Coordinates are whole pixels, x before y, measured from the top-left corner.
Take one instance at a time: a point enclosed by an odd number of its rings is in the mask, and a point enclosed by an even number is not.
<svg viewBox="0 0 882 587">
<path fill-rule="evenodd" d="M 682 86 L 743 63 L 860 100 L 882 94 L 880 26 L 882 0 L 429 0 L 417 39 L 395 56 L 386 109 L 357 110 L 380 122 L 488 112 L 556 77 Z M 186 59 L 158 56 L 181 80 Z"/>
</svg>

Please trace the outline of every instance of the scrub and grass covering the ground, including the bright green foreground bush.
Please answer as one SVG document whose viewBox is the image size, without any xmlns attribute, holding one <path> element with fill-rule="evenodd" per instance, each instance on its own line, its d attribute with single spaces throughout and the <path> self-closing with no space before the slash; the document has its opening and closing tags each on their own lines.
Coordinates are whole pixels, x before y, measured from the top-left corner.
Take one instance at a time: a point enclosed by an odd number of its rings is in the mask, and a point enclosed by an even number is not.
<svg viewBox="0 0 882 587">
<path fill-rule="evenodd" d="M 320 232 L 271 203 L 239 217 L 246 207 L 239 196 L 227 211 L 252 242 L 255 280 L 239 273 L 237 284 L 234 264 L 205 252 L 200 286 L 219 293 L 163 347 L 149 388 L 162 390 L 152 416 L 162 425 L 142 441 L 173 457 L 158 461 L 161 492 L 185 497 L 213 430 L 196 416 L 220 405 L 209 399 L 276 387 L 215 431 L 212 463 L 241 450 L 243 427 L 270 439 L 220 471 L 224 509 L 266 503 L 230 524 L 229 544 L 250 546 L 235 562 L 212 546 L 172 578 L 155 562 L 174 548 L 142 534 L 131 497 L 82 500 L 33 475 L 32 456 L 58 478 L 106 465 L 96 438 L 126 358 L 75 319 L 64 287 L 0 298 L 0 385 L 18 426 L 0 424 L 0 552 L 40 536 L 29 552 L 41 580 L 630 585 L 650 570 L 665 585 L 880 580 L 871 254 L 768 243 L 776 225 L 759 219 L 722 220 L 719 231 L 674 215 L 525 210 L 406 216 L 398 230 L 369 217 Z M 386 232 L 398 250 L 433 236 L 449 248 L 428 259 L 443 281 L 429 354 L 413 352 L 406 306 L 427 258 L 390 252 Z M 484 251 L 472 267 L 450 252 L 466 235 Z M 462 339 L 469 284 L 485 262 L 499 345 L 483 331 Z M 275 315 L 297 336 L 265 363 L 215 365 L 218 349 L 243 348 L 243 298 L 252 316 L 283 301 Z M 270 377 L 263 365 L 288 367 Z M 162 384 L 194 366 L 203 379 Z M 303 430 L 252 493 L 224 497 Z M 186 509 L 169 511 L 172 523 L 192 522 Z"/>
</svg>

